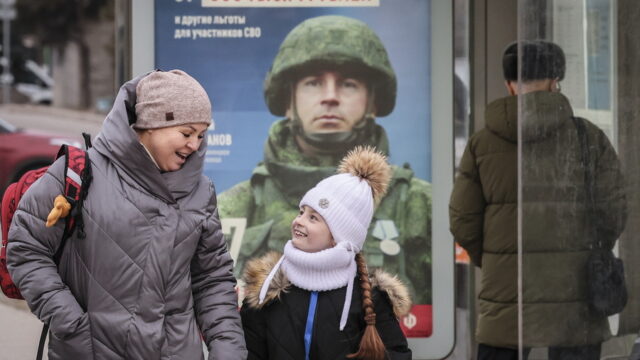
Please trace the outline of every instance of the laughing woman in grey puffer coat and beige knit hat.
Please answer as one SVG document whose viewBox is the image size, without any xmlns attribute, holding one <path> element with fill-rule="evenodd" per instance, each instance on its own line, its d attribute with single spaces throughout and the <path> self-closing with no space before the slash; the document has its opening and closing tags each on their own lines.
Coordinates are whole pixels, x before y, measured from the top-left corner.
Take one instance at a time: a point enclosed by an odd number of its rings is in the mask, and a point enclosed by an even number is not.
<svg viewBox="0 0 640 360">
<path fill-rule="evenodd" d="M 126 83 L 89 150 L 93 180 L 78 231 L 52 259 L 64 221 L 45 228 L 64 163 L 21 199 L 8 267 L 49 324 L 49 359 L 244 359 L 233 262 L 211 181 L 202 175 L 211 123 L 186 73 Z"/>
</svg>

